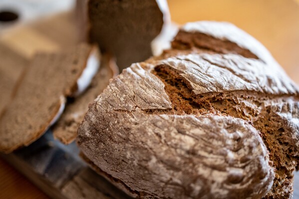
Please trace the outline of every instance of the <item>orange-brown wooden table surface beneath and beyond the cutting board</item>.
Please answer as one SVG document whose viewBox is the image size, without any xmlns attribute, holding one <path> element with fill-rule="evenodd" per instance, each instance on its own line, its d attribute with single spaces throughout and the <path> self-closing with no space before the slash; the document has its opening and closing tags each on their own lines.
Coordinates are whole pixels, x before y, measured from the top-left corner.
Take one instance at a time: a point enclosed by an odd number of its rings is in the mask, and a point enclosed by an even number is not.
<svg viewBox="0 0 299 199">
<path fill-rule="evenodd" d="M 299 0 L 168 0 L 168 3 L 172 20 L 179 24 L 196 20 L 235 23 L 260 40 L 299 84 Z M 29 48 L 26 56 L 30 57 L 34 50 Z M 43 198 L 47 197 L 0 159 L 0 199 Z"/>
</svg>

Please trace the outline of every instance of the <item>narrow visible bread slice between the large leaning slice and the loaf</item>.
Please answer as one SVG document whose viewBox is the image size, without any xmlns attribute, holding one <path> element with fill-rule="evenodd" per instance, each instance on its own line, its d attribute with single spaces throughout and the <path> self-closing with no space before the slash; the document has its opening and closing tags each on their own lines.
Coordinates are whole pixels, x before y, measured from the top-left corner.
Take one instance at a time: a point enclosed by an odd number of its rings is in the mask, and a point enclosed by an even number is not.
<svg viewBox="0 0 299 199">
<path fill-rule="evenodd" d="M 118 68 L 111 55 L 101 56 L 101 67 L 94 76 L 91 85 L 83 95 L 71 99 L 52 131 L 56 139 L 69 144 L 77 136 L 77 129 L 91 103 L 109 84 L 109 80 L 118 74 Z"/>
</svg>

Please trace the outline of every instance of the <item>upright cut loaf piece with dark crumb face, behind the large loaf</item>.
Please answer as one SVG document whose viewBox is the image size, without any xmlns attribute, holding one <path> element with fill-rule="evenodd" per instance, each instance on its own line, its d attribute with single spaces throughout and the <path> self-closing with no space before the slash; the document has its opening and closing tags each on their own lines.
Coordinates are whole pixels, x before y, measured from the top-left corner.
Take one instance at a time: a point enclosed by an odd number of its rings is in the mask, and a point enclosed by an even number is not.
<svg viewBox="0 0 299 199">
<path fill-rule="evenodd" d="M 114 54 L 120 69 L 152 56 L 152 40 L 170 21 L 166 0 L 77 0 L 76 10 L 83 40 Z"/>
</svg>

